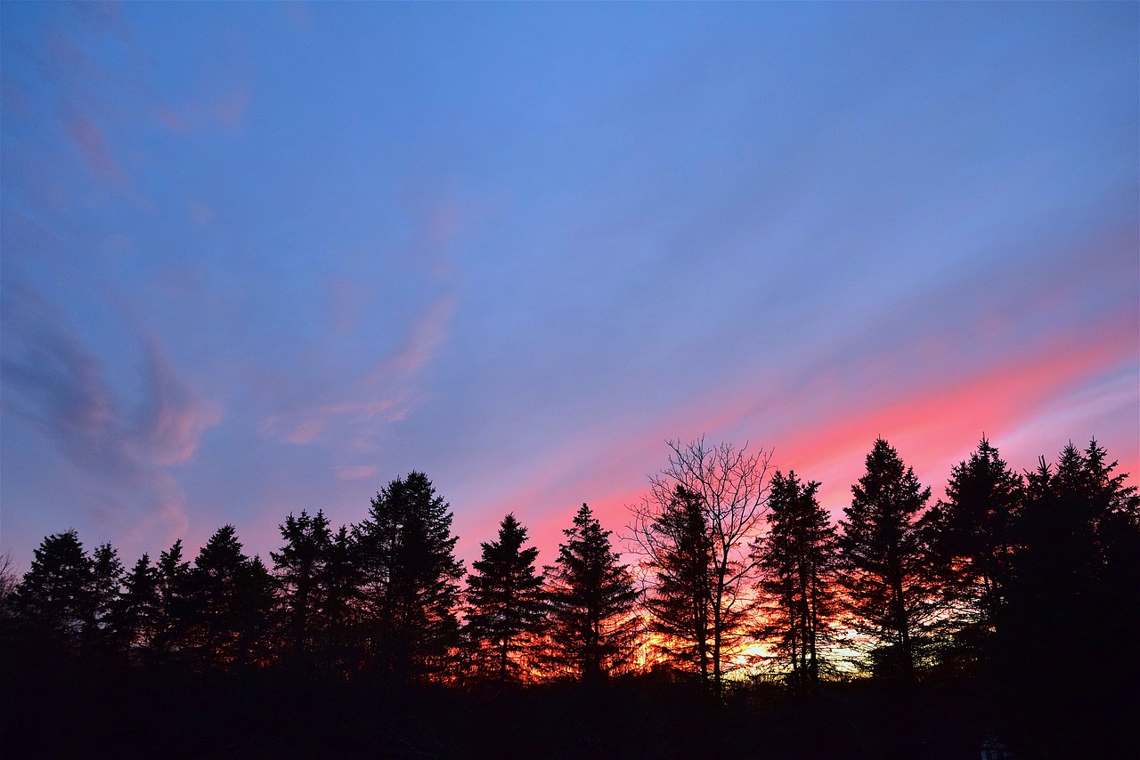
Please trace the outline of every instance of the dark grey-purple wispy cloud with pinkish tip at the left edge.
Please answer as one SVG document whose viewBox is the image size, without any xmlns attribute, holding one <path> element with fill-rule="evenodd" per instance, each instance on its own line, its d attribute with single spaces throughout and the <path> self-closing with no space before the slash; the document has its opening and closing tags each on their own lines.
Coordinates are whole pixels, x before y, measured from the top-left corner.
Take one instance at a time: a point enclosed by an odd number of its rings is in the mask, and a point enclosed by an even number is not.
<svg viewBox="0 0 1140 760">
<path fill-rule="evenodd" d="M 99 358 L 34 288 L 9 278 L 3 296 L 3 411 L 38 428 L 119 505 L 107 520 L 163 536 L 185 530 L 186 496 L 169 468 L 192 460 L 221 407 L 186 385 L 156 336 L 141 342 L 141 401 L 124 402 Z"/>
</svg>

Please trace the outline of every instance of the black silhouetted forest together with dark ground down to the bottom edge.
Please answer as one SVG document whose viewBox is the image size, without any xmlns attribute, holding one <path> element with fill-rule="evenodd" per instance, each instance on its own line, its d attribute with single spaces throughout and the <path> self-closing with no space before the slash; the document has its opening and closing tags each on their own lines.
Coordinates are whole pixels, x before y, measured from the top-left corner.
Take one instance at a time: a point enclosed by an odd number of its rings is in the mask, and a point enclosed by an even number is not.
<svg viewBox="0 0 1140 760">
<path fill-rule="evenodd" d="M 838 522 L 764 450 L 671 442 L 625 525 L 467 569 L 426 474 L 130 566 L 74 530 L 0 586 L 7 757 L 1140 757 L 1140 496 L 1097 441 L 945 498 L 883 440 Z"/>
</svg>

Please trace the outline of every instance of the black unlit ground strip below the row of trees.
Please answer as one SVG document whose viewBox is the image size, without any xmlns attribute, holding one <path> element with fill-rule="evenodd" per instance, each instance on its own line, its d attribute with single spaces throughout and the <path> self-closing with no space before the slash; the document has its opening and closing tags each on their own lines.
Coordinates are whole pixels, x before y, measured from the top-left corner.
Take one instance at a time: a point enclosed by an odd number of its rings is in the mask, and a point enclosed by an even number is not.
<svg viewBox="0 0 1140 760">
<path fill-rule="evenodd" d="M 1074 701 L 1065 712 L 1001 709 L 1000 696 L 961 678 L 836 683 L 814 698 L 740 685 L 718 703 L 654 676 L 593 689 L 393 688 L 272 669 L 125 668 L 28 649 L 9 648 L 2 661 L 7 758 L 974 760 L 990 736 L 1016 749 L 1008 757 L 1140 757 L 1129 725 L 1134 694 Z"/>
</svg>

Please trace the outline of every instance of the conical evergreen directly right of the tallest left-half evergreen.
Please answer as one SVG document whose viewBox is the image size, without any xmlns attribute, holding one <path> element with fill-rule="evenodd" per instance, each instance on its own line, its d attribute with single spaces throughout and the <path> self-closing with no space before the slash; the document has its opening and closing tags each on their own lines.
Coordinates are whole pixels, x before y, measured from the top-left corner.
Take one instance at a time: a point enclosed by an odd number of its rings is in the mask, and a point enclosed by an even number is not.
<svg viewBox="0 0 1140 760">
<path fill-rule="evenodd" d="M 508 514 L 467 577 L 467 635 L 477 649 L 490 648 L 499 680 L 518 676 L 520 641 L 538 631 L 546 612 L 538 549 L 523 548 L 526 540 L 527 529 Z"/>
</svg>

